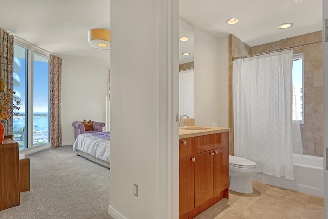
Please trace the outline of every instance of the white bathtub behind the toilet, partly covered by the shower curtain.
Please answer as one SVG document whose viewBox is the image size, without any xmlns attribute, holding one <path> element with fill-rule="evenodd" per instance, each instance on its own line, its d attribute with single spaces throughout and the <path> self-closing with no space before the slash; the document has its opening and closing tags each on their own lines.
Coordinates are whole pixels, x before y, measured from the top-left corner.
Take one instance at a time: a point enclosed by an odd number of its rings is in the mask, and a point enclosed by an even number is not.
<svg viewBox="0 0 328 219">
<path fill-rule="evenodd" d="M 323 198 L 323 157 L 293 154 L 294 180 L 257 172 L 253 180 Z"/>
</svg>

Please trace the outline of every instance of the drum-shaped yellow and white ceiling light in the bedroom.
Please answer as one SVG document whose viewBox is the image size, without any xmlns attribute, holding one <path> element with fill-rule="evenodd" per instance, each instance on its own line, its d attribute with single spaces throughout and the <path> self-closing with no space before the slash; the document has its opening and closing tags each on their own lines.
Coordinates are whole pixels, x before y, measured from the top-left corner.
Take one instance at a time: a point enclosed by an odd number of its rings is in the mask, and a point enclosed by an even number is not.
<svg viewBox="0 0 328 219">
<path fill-rule="evenodd" d="M 89 30 L 88 44 L 97 49 L 111 49 L 111 31 L 105 29 Z"/>
</svg>

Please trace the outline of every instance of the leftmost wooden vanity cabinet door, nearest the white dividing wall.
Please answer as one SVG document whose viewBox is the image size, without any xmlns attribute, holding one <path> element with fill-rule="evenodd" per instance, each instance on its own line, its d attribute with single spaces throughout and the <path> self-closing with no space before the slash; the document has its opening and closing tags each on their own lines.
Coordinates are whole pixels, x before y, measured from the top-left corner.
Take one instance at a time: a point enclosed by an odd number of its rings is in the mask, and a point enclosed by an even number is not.
<svg viewBox="0 0 328 219">
<path fill-rule="evenodd" d="M 180 158 L 179 163 L 179 215 L 194 208 L 195 162 L 193 156 Z"/>
</svg>

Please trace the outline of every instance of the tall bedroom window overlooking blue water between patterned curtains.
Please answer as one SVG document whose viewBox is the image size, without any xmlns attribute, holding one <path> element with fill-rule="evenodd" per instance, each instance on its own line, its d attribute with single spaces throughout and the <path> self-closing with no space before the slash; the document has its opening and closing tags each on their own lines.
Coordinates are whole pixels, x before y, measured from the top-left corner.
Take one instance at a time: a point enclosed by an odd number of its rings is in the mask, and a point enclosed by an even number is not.
<svg viewBox="0 0 328 219">
<path fill-rule="evenodd" d="M 23 150 L 50 140 L 49 54 L 15 38 L 14 62 L 14 98 L 22 103 L 19 116 L 13 117 L 13 134 Z"/>
</svg>

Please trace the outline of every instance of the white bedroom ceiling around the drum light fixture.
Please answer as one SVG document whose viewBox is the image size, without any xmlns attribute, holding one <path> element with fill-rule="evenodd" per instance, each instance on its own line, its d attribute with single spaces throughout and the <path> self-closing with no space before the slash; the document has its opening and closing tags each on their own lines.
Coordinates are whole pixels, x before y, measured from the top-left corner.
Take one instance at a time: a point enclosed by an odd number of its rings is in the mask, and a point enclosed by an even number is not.
<svg viewBox="0 0 328 219">
<path fill-rule="evenodd" d="M 110 68 L 110 50 L 88 45 L 88 30 L 110 30 L 110 1 L 4 0 L 1 7 L 0 28 L 61 58 Z"/>
</svg>

